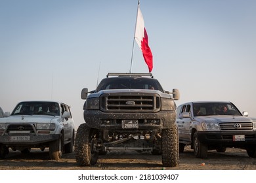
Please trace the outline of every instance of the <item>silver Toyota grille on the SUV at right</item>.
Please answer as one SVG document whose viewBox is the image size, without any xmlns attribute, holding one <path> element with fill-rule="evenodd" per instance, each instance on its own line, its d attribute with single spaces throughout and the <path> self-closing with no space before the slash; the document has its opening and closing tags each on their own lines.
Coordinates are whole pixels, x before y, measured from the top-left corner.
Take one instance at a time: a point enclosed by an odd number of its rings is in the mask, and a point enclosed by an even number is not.
<svg viewBox="0 0 256 183">
<path fill-rule="evenodd" d="M 252 130 L 253 123 L 220 123 L 221 130 Z"/>
</svg>

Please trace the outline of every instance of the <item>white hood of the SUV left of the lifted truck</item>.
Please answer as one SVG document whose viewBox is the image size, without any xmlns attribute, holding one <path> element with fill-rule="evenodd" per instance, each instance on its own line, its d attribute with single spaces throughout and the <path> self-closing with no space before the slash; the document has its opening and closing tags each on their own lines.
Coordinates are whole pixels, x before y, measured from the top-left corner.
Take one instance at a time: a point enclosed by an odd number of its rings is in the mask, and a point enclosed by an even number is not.
<svg viewBox="0 0 256 183">
<path fill-rule="evenodd" d="M 9 116 L 8 118 L 0 118 L 1 124 L 13 123 L 50 123 L 53 119 L 60 120 L 60 116 L 45 116 L 45 115 L 18 115 Z"/>
</svg>

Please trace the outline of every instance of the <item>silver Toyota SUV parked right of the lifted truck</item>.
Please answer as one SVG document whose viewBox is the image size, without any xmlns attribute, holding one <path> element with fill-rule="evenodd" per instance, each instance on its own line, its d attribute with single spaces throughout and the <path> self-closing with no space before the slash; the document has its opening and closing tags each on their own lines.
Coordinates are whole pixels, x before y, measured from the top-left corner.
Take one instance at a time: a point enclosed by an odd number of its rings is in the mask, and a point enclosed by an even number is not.
<svg viewBox="0 0 256 183">
<path fill-rule="evenodd" d="M 225 152 L 243 148 L 256 158 L 256 118 L 247 117 L 234 104 L 224 101 L 190 102 L 177 108 L 179 152 L 191 145 L 196 158 L 207 158 L 208 150 Z"/>
</svg>

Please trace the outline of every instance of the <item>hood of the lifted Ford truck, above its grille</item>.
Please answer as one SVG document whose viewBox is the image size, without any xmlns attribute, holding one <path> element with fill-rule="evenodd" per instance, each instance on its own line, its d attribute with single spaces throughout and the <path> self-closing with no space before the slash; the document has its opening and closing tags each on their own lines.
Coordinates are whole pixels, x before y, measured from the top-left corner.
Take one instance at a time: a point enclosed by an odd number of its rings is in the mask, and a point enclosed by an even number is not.
<svg viewBox="0 0 256 183">
<path fill-rule="evenodd" d="M 170 94 L 160 92 L 159 90 L 145 90 L 145 89 L 114 89 L 114 90 L 101 90 L 97 93 L 91 93 L 88 98 L 100 97 L 102 94 L 110 94 L 111 93 L 127 93 L 129 95 L 148 95 L 148 94 L 158 94 L 163 98 L 172 98 Z"/>
</svg>

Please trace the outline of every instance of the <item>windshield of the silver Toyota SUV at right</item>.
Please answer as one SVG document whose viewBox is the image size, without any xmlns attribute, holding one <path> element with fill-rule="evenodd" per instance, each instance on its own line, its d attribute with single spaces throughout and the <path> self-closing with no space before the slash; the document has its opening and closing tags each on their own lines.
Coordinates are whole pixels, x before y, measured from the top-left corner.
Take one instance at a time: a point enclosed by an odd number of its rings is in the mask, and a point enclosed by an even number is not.
<svg viewBox="0 0 256 183">
<path fill-rule="evenodd" d="M 194 103 L 194 116 L 232 115 L 242 116 L 232 103 Z"/>
</svg>

